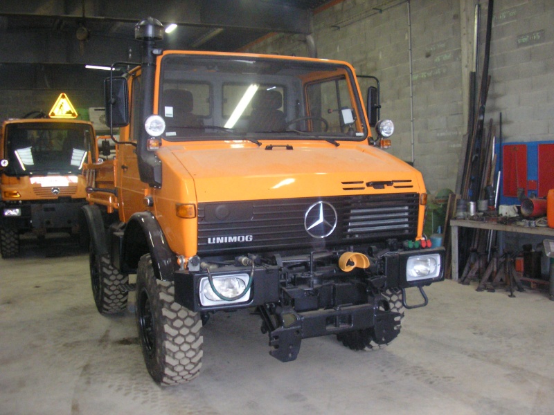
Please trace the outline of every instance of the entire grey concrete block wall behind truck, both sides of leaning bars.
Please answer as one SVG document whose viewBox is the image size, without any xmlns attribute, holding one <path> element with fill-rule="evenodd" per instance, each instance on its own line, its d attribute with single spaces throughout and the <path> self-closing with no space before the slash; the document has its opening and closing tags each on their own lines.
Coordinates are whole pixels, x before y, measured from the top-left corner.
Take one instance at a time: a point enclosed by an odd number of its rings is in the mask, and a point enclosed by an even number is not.
<svg viewBox="0 0 554 415">
<path fill-rule="evenodd" d="M 395 122 L 388 151 L 412 161 L 427 190 L 454 190 L 467 130 L 467 86 L 471 70 L 464 54 L 472 50 L 474 5 L 481 3 L 483 54 L 486 0 L 345 0 L 314 15 L 318 57 L 350 62 L 357 73 L 379 77 L 382 117 Z M 380 11 L 379 11 L 380 10 Z M 464 15 L 467 14 L 467 15 Z M 410 116 L 409 28 L 411 21 L 413 138 Z M 467 21 L 467 27 L 463 25 Z M 553 140 L 554 1 L 497 0 L 485 118 L 509 142 Z M 307 56 L 303 39 L 278 35 L 249 51 Z M 472 57 L 467 57 L 470 61 Z M 479 66 L 478 75 L 482 69 Z M 466 98 L 467 99 L 467 98 Z M 413 141 L 413 145 L 412 145 Z"/>
</svg>

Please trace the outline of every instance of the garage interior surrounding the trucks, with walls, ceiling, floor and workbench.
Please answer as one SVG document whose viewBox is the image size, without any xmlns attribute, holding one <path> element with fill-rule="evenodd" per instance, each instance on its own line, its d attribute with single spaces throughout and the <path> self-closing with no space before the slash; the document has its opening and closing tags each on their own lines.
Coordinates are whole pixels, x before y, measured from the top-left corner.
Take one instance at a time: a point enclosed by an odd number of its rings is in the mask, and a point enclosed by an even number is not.
<svg viewBox="0 0 554 415">
<path fill-rule="evenodd" d="M 107 71 L 85 65 L 139 62 L 134 26 L 149 16 L 177 24 L 164 49 L 337 59 L 377 77 L 395 123 L 384 151 L 422 173 L 445 281 L 406 310 L 391 344 L 351 351 L 328 335 L 286 363 L 268 356 L 250 309 L 215 313 L 202 375 L 159 387 L 133 293 L 123 313 L 100 315 L 88 251 L 25 235 L 19 257 L 0 259 L 1 414 L 552 413 L 554 3 L 4 0 L 0 119 L 47 113 L 65 93 L 109 133 L 94 114 Z"/>
</svg>

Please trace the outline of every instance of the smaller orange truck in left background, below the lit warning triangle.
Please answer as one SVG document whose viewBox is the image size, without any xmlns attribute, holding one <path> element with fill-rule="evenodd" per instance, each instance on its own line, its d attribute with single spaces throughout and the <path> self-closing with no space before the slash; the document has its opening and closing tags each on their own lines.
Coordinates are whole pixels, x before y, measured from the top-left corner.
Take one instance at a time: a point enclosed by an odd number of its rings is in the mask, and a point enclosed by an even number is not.
<svg viewBox="0 0 554 415">
<path fill-rule="evenodd" d="M 90 122 L 53 118 L 6 120 L 0 138 L 0 250 L 19 255 L 20 235 L 78 235 L 86 204 L 82 165 L 90 154 Z M 85 223 L 86 225 L 86 223 Z M 86 231 L 85 227 L 85 231 Z"/>
</svg>

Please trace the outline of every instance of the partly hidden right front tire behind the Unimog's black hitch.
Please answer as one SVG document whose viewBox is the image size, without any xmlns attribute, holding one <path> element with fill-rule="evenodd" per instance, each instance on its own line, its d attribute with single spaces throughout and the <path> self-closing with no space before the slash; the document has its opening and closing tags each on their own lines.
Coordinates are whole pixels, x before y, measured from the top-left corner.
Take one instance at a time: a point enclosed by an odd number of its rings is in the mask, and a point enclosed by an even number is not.
<svg viewBox="0 0 554 415">
<path fill-rule="evenodd" d="M 399 313 L 395 317 L 394 331 L 395 333 L 387 333 L 388 338 L 392 340 L 400 333 L 400 328 L 402 327 L 402 319 L 404 318 L 404 304 L 402 304 L 402 291 L 397 288 L 388 288 L 382 293 L 383 297 L 386 298 L 388 305 L 382 304 L 379 307 L 382 311 L 392 311 L 394 313 Z M 375 333 L 373 328 L 364 329 L 364 330 L 355 330 L 348 331 L 347 333 L 341 333 L 337 335 L 337 340 L 342 342 L 344 346 L 357 351 L 370 351 L 375 349 L 380 349 L 381 347 L 390 344 L 392 340 L 386 341 L 384 338 L 379 338 L 379 335 Z"/>
</svg>

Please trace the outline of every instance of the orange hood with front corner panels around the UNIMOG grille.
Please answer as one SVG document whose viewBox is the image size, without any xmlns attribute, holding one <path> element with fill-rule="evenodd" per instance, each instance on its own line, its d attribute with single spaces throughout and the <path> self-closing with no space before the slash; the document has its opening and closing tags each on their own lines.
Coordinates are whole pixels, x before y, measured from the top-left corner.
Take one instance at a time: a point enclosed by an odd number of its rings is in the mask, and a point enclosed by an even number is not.
<svg viewBox="0 0 554 415">
<path fill-rule="evenodd" d="M 196 254 L 197 219 L 177 217 L 177 203 L 425 193 L 422 176 L 413 167 L 358 143 L 333 147 L 294 142 L 292 150 L 271 151 L 250 142 L 171 144 L 164 142 L 158 151 L 163 186 L 152 190 L 152 210 L 172 250 L 185 257 Z M 391 180 L 398 185 L 383 190 L 366 186 L 368 181 Z M 424 216 L 425 206 L 420 205 L 418 237 Z"/>
</svg>

